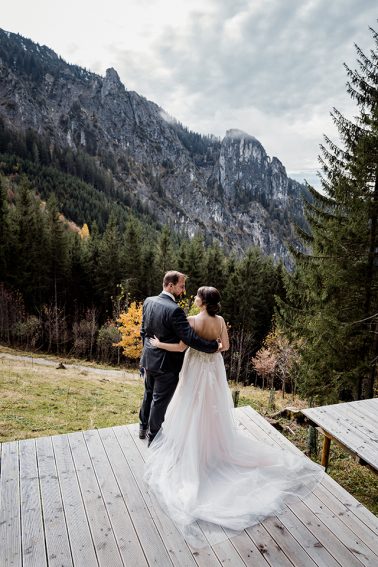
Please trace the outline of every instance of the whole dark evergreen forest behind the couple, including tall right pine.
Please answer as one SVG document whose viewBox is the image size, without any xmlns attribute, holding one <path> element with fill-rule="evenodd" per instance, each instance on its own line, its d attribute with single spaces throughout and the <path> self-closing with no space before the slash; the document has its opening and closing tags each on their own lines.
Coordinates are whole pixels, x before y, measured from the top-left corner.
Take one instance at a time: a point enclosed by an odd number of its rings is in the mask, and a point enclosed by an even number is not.
<svg viewBox="0 0 378 567">
<path fill-rule="evenodd" d="M 332 111 L 341 143 L 324 138 L 322 189 L 308 187 L 290 271 L 256 248 L 240 258 L 200 234 L 160 226 L 127 188 L 115 189 L 111 155 L 100 163 L 90 153 L 51 149 L 47 136 L 11 131 L 0 119 L 1 341 L 118 363 L 120 314 L 159 293 L 165 271 L 178 269 L 188 275 L 189 307 L 199 286 L 221 291 L 230 379 L 281 384 L 317 405 L 372 397 L 378 35 L 370 31 L 374 48 L 356 47 L 357 69 L 346 66 L 357 116 Z M 210 138 L 177 131 L 193 155 L 211 161 Z M 127 155 L 123 166 L 132 167 Z"/>
</svg>

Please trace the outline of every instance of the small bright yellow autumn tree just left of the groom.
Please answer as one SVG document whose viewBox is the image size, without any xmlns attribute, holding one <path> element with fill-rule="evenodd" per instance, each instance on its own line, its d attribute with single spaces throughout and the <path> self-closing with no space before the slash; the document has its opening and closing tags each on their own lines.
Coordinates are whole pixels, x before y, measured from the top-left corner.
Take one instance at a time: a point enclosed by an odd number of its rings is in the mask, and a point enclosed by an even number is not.
<svg viewBox="0 0 378 567">
<path fill-rule="evenodd" d="M 140 327 L 142 324 L 142 304 L 133 301 L 127 311 L 120 314 L 117 322 L 121 333 L 121 340 L 114 346 L 123 347 L 123 354 L 127 358 L 137 360 L 142 353 L 142 339 Z"/>
</svg>

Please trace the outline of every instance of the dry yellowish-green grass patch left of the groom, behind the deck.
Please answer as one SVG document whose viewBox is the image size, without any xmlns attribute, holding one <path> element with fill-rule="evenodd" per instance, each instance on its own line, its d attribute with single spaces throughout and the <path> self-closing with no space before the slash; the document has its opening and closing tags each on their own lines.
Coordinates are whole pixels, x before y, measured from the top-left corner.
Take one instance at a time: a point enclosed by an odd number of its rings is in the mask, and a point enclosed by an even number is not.
<svg viewBox="0 0 378 567">
<path fill-rule="evenodd" d="M 141 380 L 0 359 L 0 442 L 138 421 Z"/>
</svg>

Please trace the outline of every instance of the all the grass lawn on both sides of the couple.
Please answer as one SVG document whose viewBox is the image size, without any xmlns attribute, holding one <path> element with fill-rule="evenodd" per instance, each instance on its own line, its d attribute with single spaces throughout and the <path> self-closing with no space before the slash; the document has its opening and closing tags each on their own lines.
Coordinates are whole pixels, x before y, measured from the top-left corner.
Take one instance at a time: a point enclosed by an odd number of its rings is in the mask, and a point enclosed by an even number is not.
<svg viewBox="0 0 378 567">
<path fill-rule="evenodd" d="M 95 364 L 85 368 L 58 370 L 28 360 L 9 360 L 2 354 L 25 355 L 0 347 L 0 442 L 71 431 L 135 423 L 143 396 L 143 383 L 136 371 L 99 375 Z M 72 362 L 71 360 L 69 362 Z M 74 361 L 83 365 L 82 361 Z M 114 368 L 112 369 L 114 371 Z M 232 387 L 232 385 L 231 385 Z M 239 405 L 250 405 L 262 415 L 268 410 L 269 392 L 253 386 L 240 387 Z M 282 399 L 277 392 L 276 410 L 286 406 L 306 407 L 291 396 Z M 283 433 L 301 450 L 306 449 L 307 427 L 280 419 Z M 319 438 L 320 457 L 322 437 Z M 378 515 L 378 475 L 357 464 L 336 443 L 332 443 L 328 473 L 357 500 Z"/>
</svg>

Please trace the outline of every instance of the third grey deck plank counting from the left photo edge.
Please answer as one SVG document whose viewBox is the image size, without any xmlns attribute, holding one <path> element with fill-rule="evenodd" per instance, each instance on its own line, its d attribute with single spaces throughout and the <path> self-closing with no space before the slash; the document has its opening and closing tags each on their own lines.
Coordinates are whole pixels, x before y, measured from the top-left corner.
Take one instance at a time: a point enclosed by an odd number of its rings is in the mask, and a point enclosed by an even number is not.
<svg viewBox="0 0 378 567">
<path fill-rule="evenodd" d="M 48 564 L 49 567 L 71 567 L 71 549 L 51 437 L 40 437 L 36 446 Z"/>
</svg>

